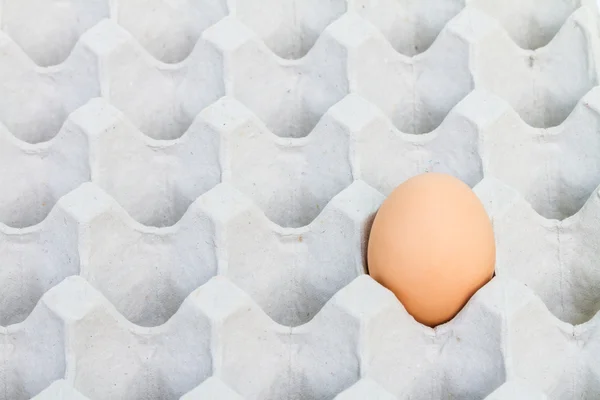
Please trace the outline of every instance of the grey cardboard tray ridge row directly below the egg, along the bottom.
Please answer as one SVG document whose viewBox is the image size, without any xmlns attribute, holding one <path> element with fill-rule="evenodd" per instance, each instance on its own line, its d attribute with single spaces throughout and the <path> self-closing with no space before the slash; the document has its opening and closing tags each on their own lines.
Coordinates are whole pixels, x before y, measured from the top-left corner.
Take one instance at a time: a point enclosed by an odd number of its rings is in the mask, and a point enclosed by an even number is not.
<svg viewBox="0 0 600 400">
<path fill-rule="evenodd" d="M 233 391 L 272 399 L 342 392 L 344 399 L 365 390 L 392 398 L 484 398 L 498 387 L 492 399 L 536 388 L 555 398 L 593 398 L 600 389 L 598 321 L 562 322 L 527 286 L 496 277 L 456 318 L 432 329 L 362 275 L 310 322 L 288 327 L 218 276 L 190 294 L 167 323 L 140 327 L 73 276 L 44 294 L 25 322 L 10 327 L 5 346 L 25 342 L 28 351 L 11 354 L 18 368 L 7 378 L 9 388 L 32 392 L 44 379 L 65 377 L 62 386 L 90 398 Z M 29 375 L 28 385 L 10 385 Z M 216 380 L 206 381 L 211 375 Z M 507 379 L 523 384 L 501 387 Z"/>
</svg>

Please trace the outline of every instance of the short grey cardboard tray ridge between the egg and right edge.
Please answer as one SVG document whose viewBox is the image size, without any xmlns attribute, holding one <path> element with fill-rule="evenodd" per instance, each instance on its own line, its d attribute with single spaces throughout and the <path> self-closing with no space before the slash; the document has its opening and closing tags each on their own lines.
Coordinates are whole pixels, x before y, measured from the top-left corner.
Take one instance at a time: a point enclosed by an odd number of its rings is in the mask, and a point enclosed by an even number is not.
<svg viewBox="0 0 600 400">
<path fill-rule="evenodd" d="M 494 178 L 475 187 L 496 233 L 496 273 L 525 283 L 558 318 L 575 324 L 600 310 L 600 273 L 589 267 L 596 258 L 598 190 L 577 214 L 555 220 Z"/>
</svg>

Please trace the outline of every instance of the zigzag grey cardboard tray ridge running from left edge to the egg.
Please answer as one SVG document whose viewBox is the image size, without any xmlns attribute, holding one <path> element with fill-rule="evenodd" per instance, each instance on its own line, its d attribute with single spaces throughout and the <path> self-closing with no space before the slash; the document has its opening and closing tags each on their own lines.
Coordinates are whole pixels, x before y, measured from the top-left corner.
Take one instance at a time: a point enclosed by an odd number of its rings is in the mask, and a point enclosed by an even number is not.
<svg viewBox="0 0 600 400">
<path fill-rule="evenodd" d="M 300 324 L 363 272 L 368 221 L 382 201 L 357 181 L 310 226 L 285 229 L 223 183 L 199 197 L 176 225 L 154 228 L 85 183 L 41 224 L 3 231 L 8 267 L 0 316 L 4 325 L 22 321 L 46 290 L 80 274 L 130 321 L 153 326 L 166 322 L 193 289 L 225 274 L 274 319 Z M 315 258 L 326 251 L 328 258 Z"/>
</svg>

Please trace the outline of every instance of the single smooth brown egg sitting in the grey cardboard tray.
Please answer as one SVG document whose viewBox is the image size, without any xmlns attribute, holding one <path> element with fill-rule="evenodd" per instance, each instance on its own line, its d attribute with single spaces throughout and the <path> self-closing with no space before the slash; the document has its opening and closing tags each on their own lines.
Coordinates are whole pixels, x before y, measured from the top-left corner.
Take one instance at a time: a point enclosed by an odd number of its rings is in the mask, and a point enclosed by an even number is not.
<svg viewBox="0 0 600 400">
<path fill-rule="evenodd" d="M 398 186 L 373 222 L 369 274 L 419 322 L 452 319 L 494 274 L 494 231 L 473 191 L 427 173 Z"/>
</svg>

